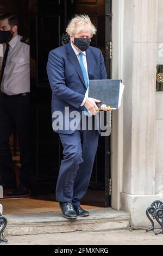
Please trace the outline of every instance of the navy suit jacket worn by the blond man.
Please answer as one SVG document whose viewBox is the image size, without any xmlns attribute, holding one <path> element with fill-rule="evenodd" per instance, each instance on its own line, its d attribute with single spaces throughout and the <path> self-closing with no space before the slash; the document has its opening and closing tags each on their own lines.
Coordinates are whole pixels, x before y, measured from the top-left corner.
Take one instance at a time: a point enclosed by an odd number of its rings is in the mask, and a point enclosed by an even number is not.
<svg viewBox="0 0 163 256">
<path fill-rule="evenodd" d="M 90 80 L 107 79 L 104 58 L 101 50 L 90 46 L 86 50 L 87 71 Z M 80 107 L 84 100 L 86 87 L 79 60 L 73 51 L 71 42 L 55 48 L 49 52 L 47 63 L 47 74 L 52 89 L 52 121 L 63 120 L 63 126 L 53 130 L 58 133 L 73 133 L 70 124 L 73 117 L 65 118 L 65 107 L 69 107 L 69 112 L 78 111 L 76 118 L 77 125 L 82 117 L 83 108 Z M 58 115 L 62 113 L 62 117 Z M 53 114 L 55 113 L 55 114 Z"/>
</svg>

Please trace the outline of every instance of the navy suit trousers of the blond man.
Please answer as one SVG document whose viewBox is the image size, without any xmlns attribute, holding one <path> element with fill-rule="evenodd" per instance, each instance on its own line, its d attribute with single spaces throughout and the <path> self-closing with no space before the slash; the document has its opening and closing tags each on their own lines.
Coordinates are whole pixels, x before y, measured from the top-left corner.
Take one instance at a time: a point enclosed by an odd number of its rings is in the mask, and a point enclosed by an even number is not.
<svg viewBox="0 0 163 256">
<path fill-rule="evenodd" d="M 56 187 L 56 200 L 80 205 L 91 179 L 98 146 L 98 131 L 59 133 L 64 148 Z"/>
</svg>

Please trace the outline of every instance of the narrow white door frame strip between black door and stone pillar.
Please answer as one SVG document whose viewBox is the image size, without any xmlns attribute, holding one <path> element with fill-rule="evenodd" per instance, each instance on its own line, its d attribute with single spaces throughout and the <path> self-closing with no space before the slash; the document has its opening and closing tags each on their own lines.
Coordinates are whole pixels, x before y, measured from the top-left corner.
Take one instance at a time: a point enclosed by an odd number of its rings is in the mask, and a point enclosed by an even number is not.
<svg viewBox="0 0 163 256">
<path fill-rule="evenodd" d="M 112 1 L 112 79 L 123 81 L 124 0 Z M 123 191 L 123 98 L 121 108 L 112 113 L 111 130 L 112 208 L 121 209 Z"/>
</svg>

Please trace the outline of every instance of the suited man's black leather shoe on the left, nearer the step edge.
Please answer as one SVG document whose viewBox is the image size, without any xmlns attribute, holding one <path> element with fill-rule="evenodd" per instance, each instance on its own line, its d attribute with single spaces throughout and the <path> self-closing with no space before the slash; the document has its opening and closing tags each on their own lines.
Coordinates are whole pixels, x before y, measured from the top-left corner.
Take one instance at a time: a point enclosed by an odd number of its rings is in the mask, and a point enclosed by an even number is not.
<svg viewBox="0 0 163 256">
<path fill-rule="evenodd" d="M 77 213 L 74 210 L 71 202 L 60 202 L 60 209 L 65 218 L 77 218 Z"/>
</svg>

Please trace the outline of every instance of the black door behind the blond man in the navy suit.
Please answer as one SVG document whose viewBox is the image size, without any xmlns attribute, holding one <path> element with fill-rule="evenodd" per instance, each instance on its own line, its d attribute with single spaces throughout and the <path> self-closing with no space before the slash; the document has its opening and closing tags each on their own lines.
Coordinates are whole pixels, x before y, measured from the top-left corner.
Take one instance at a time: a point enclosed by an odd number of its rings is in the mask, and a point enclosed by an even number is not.
<svg viewBox="0 0 163 256">
<path fill-rule="evenodd" d="M 59 136 L 52 131 L 51 89 L 46 74 L 48 52 L 60 46 L 60 36 L 74 14 L 88 14 L 98 31 L 91 44 L 101 48 L 110 78 L 111 63 L 105 51 L 111 35 L 110 8 L 111 0 L 29 0 L 33 194 L 54 193 L 62 159 Z M 109 182 L 110 136 L 99 138 L 91 182 L 83 203 L 110 206 Z"/>
</svg>

